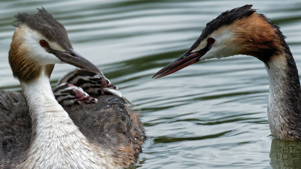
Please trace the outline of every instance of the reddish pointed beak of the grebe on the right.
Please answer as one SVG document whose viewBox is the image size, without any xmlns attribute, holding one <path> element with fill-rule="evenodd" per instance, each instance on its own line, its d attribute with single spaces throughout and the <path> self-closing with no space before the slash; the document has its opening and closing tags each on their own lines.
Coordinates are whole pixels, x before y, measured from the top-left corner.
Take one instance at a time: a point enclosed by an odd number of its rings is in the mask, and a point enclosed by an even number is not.
<svg viewBox="0 0 301 169">
<path fill-rule="evenodd" d="M 180 56 L 175 61 L 169 63 L 167 66 L 158 71 L 152 79 L 157 79 L 160 77 L 167 76 L 172 74 L 178 70 L 181 70 L 189 65 L 192 65 L 199 61 L 199 59 L 209 50 L 209 47 L 205 47 L 202 50 L 196 51 L 194 53 L 190 53 L 190 50 L 185 52 L 182 56 Z"/>
</svg>

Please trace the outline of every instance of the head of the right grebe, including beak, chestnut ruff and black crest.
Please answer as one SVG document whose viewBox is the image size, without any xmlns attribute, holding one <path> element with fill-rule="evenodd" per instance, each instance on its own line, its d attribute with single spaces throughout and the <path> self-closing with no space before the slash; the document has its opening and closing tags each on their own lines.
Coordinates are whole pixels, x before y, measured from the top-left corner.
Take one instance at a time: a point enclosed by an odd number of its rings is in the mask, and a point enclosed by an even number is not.
<svg viewBox="0 0 301 169">
<path fill-rule="evenodd" d="M 254 56 L 268 66 L 273 55 L 286 50 L 282 49 L 287 46 L 283 45 L 284 39 L 278 26 L 257 14 L 252 5 L 245 5 L 207 23 L 191 48 L 152 78 L 164 77 L 201 60 L 239 54 Z"/>
</svg>

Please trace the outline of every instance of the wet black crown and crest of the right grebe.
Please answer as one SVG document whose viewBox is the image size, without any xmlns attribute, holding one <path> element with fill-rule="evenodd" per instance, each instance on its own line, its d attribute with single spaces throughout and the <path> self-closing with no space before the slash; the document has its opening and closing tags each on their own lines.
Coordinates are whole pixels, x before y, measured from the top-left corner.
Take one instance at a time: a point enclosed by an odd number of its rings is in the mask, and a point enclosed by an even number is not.
<svg viewBox="0 0 301 169">
<path fill-rule="evenodd" d="M 197 39 L 197 41 L 194 42 L 190 50 L 196 48 L 197 45 L 199 45 L 200 42 L 203 41 L 213 31 L 219 29 L 222 26 L 231 25 L 234 21 L 248 17 L 254 12 L 256 12 L 255 9 L 252 9 L 252 6 L 253 5 L 245 5 L 239 8 L 234 8 L 230 11 L 225 11 L 222 14 L 220 14 L 218 17 L 216 17 L 216 19 L 207 23 L 202 34 Z"/>
</svg>

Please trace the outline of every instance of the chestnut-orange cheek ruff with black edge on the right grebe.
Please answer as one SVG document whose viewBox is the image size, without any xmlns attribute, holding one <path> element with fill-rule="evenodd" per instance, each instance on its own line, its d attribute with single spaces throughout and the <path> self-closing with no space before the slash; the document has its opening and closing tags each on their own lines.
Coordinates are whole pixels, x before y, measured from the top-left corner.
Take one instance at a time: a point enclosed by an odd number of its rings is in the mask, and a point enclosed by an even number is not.
<svg viewBox="0 0 301 169">
<path fill-rule="evenodd" d="M 235 36 L 230 43 L 238 47 L 238 54 L 254 56 L 268 64 L 273 55 L 283 50 L 284 39 L 279 37 L 279 29 L 261 14 L 253 13 L 231 26 Z"/>
</svg>

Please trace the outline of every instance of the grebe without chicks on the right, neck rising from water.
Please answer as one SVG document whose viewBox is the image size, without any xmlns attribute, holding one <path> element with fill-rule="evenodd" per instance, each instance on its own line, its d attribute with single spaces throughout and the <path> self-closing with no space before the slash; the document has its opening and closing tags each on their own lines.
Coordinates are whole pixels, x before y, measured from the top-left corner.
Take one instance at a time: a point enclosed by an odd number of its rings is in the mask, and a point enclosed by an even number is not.
<svg viewBox="0 0 301 169">
<path fill-rule="evenodd" d="M 301 89 L 298 70 L 280 28 L 252 5 L 223 12 L 206 24 L 200 37 L 181 57 L 153 78 L 172 74 L 195 62 L 250 55 L 265 63 L 270 83 L 268 122 L 273 136 L 301 140 Z"/>
</svg>

